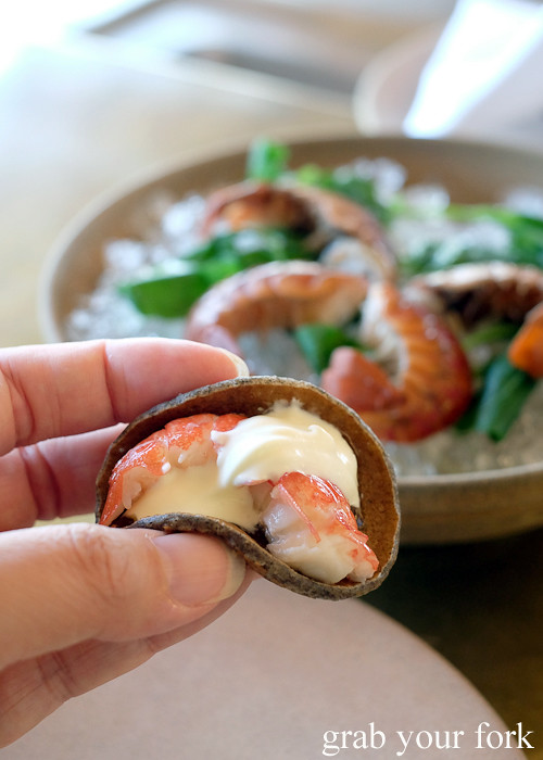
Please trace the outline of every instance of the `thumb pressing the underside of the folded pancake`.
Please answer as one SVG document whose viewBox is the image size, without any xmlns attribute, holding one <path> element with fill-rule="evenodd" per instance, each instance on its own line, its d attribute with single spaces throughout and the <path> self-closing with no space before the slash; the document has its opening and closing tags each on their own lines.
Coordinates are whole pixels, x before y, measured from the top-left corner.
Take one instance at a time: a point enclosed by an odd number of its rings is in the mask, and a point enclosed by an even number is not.
<svg viewBox="0 0 543 760">
<path fill-rule="evenodd" d="M 0 534 L 0 667 L 89 638 L 172 631 L 231 596 L 244 573 L 212 536 L 89 523 Z"/>
</svg>

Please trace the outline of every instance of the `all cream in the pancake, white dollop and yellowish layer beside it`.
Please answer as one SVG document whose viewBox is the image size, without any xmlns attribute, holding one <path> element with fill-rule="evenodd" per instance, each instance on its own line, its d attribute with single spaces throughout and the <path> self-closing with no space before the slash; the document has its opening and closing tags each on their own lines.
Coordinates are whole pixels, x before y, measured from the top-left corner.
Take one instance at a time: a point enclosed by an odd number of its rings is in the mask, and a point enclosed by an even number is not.
<svg viewBox="0 0 543 760">
<path fill-rule="evenodd" d="M 319 476 L 359 505 L 354 452 L 332 425 L 296 403 L 276 404 L 265 415 L 241 420 L 232 430 L 214 431 L 217 461 L 169 469 L 141 496 L 126 516 L 139 520 L 182 511 L 217 517 L 254 530 L 260 516 L 249 484 L 277 481 L 298 470 Z"/>
</svg>

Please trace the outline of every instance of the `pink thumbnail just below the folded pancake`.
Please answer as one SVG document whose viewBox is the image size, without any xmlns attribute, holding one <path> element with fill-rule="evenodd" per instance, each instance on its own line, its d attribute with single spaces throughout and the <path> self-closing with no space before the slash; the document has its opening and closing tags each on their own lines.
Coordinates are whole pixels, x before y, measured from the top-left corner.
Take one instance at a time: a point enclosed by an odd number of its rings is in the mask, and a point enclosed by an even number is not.
<svg viewBox="0 0 543 760">
<path fill-rule="evenodd" d="M 218 539 L 172 533 L 153 543 L 166 566 L 172 598 L 187 607 L 229 598 L 245 575 L 245 562 Z"/>
</svg>

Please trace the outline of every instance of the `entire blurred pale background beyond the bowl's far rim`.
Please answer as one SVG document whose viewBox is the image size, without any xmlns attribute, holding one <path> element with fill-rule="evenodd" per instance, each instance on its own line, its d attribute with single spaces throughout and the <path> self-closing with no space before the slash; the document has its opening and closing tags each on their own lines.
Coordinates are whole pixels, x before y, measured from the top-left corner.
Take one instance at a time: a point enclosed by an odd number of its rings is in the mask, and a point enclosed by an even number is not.
<svg viewBox="0 0 543 760">
<path fill-rule="evenodd" d="M 34 300 L 45 253 L 102 191 L 255 135 L 542 150 L 542 12 L 532 0 L 4 4 L 0 235 L 16 254 L 7 274 L 30 269 L 23 292 L 5 278 L 0 297 Z M 36 319 L 0 332 L 3 344 L 37 340 Z"/>
</svg>

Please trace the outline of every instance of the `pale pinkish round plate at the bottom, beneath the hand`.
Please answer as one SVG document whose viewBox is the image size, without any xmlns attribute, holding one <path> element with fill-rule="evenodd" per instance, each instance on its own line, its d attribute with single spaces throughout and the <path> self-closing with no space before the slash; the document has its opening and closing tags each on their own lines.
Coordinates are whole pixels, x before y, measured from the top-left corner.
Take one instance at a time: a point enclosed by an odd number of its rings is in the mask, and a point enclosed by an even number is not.
<svg viewBox="0 0 543 760">
<path fill-rule="evenodd" d="M 211 626 L 65 704 L 2 759 L 520 760 L 487 746 L 505 731 L 458 671 L 382 612 L 256 581 Z"/>
</svg>

